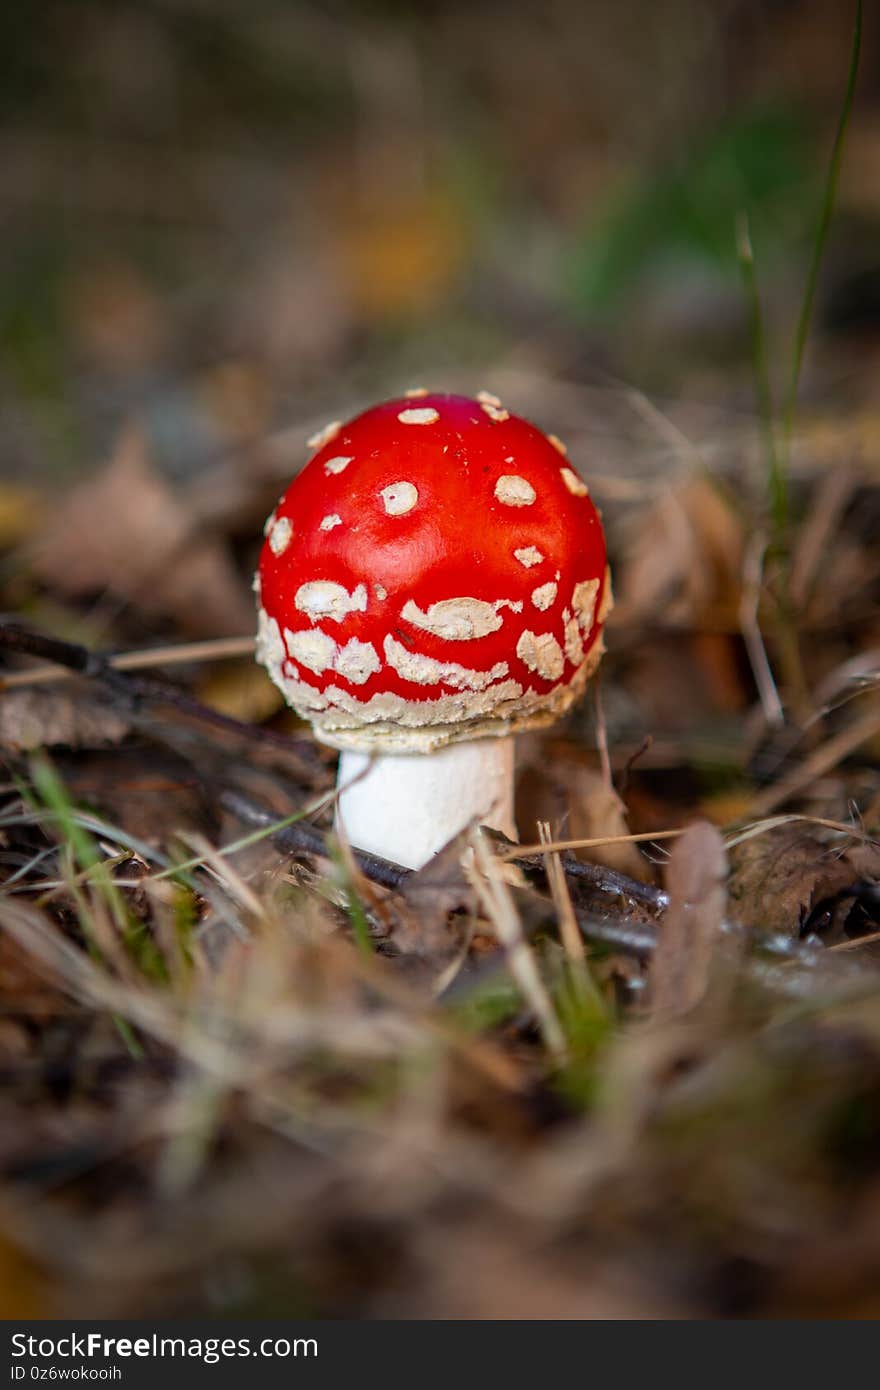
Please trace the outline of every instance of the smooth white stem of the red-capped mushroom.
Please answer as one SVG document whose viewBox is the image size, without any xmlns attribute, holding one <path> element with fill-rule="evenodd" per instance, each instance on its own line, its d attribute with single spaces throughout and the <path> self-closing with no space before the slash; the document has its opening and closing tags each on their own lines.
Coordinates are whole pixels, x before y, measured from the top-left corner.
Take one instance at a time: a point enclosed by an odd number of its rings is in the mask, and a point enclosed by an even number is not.
<svg viewBox="0 0 880 1390">
<path fill-rule="evenodd" d="M 513 738 L 449 744 L 434 753 L 339 755 L 336 803 L 350 844 L 407 869 L 475 820 L 516 838 Z"/>
</svg>

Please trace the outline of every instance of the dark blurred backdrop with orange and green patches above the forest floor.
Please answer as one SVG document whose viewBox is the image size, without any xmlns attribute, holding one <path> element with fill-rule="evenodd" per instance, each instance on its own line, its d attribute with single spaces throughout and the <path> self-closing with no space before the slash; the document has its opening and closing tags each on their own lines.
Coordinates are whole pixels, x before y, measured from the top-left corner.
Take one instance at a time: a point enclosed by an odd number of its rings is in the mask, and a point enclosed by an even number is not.
<svg viewBox="0 0 880 1390">
<path fill-rule="evenodd" d="M 282 474 L 260 441 L 423 382 L 503 386 L 584 467 L 621 384 L 717 443 L 753 409 L 735 218 L 776 370 L 851 29 L 840 0 L 4 6 L 3 475 L 71 481 L 132 421 L 175 484 Z M 876 361 L 879 221 L 869 14 L 813 398 Z"/>
</svg>

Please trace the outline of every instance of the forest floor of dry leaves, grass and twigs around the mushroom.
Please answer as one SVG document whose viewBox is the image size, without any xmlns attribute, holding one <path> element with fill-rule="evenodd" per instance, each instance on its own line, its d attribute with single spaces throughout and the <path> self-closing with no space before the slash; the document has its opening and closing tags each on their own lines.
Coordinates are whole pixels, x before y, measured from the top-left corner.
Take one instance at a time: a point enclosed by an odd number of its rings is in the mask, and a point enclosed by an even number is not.
<svg viewBox="0 0 880 1390">
<path fill-rule="evenodd" d="M 519 862 L 328 837 L 247 649 L 299 431 L 4 485 L 7 1316 L 880 1311 L 870 392 L 802 416 L 780 559 L 745 411 L 485 384 L 567 438 L 617 594 Z"/>
</svg>

